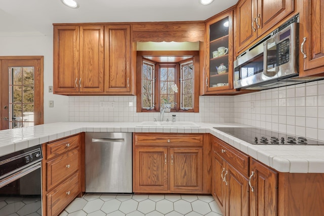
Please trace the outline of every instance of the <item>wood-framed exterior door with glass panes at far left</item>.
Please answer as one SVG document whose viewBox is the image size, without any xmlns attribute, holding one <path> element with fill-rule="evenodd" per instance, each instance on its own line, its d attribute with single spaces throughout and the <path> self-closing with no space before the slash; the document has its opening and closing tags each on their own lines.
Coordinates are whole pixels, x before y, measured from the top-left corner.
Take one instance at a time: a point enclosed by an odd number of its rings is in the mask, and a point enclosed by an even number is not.
<svg viewBox="0 0 324 216">
<path fill-rule="evenodd" d="M 1 129 L 44 123 L 43 57 L 0 57 Z"/>
</svg>

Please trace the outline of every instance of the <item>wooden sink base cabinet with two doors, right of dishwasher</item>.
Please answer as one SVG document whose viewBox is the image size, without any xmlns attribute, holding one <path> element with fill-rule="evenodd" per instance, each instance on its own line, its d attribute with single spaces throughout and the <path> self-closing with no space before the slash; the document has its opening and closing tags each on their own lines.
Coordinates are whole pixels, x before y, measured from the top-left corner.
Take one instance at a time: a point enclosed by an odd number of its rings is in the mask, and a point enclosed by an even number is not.
<svg viewBox="0 0 324 216">
<path fill-rule="evenodd" d="M 184 137 L 182 142 L 179 140 L 181 136 Z M 135 134 L 133 191 L 210 193 L 210 187 L 204 184 L 210 177 L 207 170 L 208 157 L 206 161 L 203 160 L 204 148 L 207 148 L 204 136 L 206 135 Z"/>
</svg>

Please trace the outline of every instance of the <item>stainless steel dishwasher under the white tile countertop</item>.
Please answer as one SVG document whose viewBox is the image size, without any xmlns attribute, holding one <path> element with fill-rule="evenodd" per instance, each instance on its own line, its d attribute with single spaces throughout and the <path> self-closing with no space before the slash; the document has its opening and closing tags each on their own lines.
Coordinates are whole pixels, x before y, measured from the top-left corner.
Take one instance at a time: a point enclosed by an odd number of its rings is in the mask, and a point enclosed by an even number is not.
<svg viewBox="0 0 324 216">
<path fill-rule="evenodd" d="M 86 192 L 132 193 L 132 133 L 86 133 Z"/>
</svg>

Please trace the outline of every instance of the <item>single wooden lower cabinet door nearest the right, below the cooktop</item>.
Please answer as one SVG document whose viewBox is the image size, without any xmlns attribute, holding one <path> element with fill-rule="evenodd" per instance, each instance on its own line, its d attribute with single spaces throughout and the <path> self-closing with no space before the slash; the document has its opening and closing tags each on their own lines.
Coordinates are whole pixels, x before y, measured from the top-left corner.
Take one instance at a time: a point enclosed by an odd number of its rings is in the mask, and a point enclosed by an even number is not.
<svg viewBox="0 0 324 216">
<path fill-rule="evenodd" d="M 250 215 L 278 215 L 278 174 L 252 159 L 250 170 Z"/>
</svg>

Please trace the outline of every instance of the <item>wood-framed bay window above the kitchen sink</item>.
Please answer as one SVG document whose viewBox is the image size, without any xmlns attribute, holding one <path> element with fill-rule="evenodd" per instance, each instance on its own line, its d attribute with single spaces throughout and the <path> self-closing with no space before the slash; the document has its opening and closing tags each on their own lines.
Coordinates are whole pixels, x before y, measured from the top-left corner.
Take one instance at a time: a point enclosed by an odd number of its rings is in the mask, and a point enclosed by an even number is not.
<svg viewBox="0 0 324 216">
<path fill-rule="evenodd" d="M 171 112 L 199 111 L 198 51 L 183 52 L 186 55 L 138 52 L 137 112 L 156 112 L 165 104 L 170 105 Z"/>
</svg>

